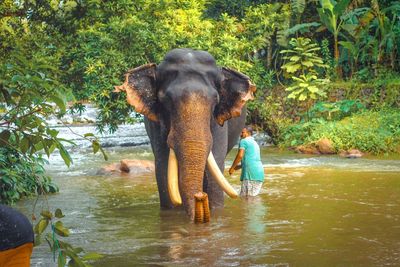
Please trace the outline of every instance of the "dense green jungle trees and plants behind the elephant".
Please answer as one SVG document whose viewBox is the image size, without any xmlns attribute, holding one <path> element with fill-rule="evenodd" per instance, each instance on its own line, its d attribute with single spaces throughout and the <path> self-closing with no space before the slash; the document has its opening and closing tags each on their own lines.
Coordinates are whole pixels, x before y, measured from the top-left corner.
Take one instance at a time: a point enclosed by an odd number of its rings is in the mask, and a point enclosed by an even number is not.
<svg viewBox="0 0 400 267">
<path fill-rule="evenodd" d="M 57 191 L 43 164 L 69 165 L 69 141 L 46 118 L 91 102 L 100 132 L 136 121 L 113 86 L 177 47 L 250 76 L 248 122 L 277 145 L 400 149 L 399 1 L 4 0 L 0 40 L 1 202 Z"/>
</svg>

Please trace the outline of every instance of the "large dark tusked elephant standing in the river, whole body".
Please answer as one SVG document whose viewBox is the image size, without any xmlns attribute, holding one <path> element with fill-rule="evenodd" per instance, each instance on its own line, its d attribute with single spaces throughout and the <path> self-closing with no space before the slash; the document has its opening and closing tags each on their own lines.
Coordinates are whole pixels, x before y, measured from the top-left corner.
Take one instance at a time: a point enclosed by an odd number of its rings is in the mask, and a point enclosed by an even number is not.
<svg viewBox="0 0 400 267">
<path fill-rule="evenodd" d="M 223 176 L 224 160 L 255 90 L 248 76 L 187 48 L 169 51 L 159 65 L 129 70 L 115 86 L 145 117 L 162 209 L 183 204 L 193 219 L 196 193 L 208 194 L 211 210 L 223 207 L 224 191 L 237 197 Z"/>
</svg>

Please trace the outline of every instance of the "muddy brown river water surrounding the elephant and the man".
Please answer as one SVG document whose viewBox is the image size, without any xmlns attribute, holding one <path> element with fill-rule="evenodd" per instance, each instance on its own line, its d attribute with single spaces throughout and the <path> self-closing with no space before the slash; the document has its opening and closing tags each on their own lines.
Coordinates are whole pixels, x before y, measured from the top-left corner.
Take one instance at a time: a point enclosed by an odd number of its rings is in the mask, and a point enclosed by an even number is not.
<svg viewBox="0 0 400 267">
<path fill-rule="evenodd" d="M 110 162 L 152 159 L 149 147 L 109 149 Z M 230 153 L 226 166 L 235 154 Z M 50 159 L 60 193 L 47 197 L 71 229 L 67 240 L 104 258 L 93 266 L 400 266 L 400 157 L 343 159 L 263 148 L 260 196 L 226 199 L 211 222 L 161 211 L 153 174 L 97 176 L 99 156 Z M 226 172 L 225 172 L 226 173 Z M 240 172 L 229 177 L 239 190 Z M 16 208 L 29 215 L 34 199 Z M 46 207 L 39 200 L 37 213 Z M 32 266 L 56 266 L 47 244 Z"/>
</svg>

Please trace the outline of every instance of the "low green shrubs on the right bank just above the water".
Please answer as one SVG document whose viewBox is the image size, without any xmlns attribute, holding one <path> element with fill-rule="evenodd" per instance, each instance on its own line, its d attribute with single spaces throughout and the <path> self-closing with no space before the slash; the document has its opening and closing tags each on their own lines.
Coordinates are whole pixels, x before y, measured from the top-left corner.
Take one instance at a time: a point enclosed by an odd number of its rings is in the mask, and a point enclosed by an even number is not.
<svg viewBox="0 0 400 267">
<path fill-rule="evenodd" d="M 397 152 L 400 148 L 400 111 L 363 111 L 340 121 L 313 119 L 288 126 L 280 136 L 285 147 L 315 144 L 327 138 L 336 152 L 352 148 L 373 154 Z"/>
</svg>

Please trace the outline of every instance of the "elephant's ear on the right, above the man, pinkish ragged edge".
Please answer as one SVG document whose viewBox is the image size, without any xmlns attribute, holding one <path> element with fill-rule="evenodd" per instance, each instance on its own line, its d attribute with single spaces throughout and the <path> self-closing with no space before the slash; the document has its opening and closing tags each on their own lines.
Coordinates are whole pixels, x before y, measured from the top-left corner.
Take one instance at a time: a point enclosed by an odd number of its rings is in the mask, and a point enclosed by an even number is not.
<svg viewBox="0 0 400 267">
<path fill-rule="evenodd" d="M 229 68 L 222 68 L 220 101 L 215 107 L 214 116 L 219 125 L 230 118 L 239 117 L 248 100 L 254 99 L 256 86 L 246 75 Z"/>
</svg>

